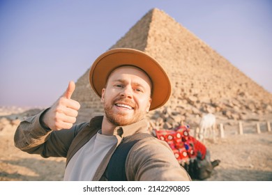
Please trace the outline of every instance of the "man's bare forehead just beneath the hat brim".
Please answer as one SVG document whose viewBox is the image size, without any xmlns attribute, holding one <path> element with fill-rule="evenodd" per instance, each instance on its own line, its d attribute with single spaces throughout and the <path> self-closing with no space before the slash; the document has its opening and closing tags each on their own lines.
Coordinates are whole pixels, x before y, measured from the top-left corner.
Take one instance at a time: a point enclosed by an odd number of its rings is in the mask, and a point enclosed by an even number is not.
<svg viewBox="0 0 272 195">
<path fill-rule="evenodd" d="M 130 65 L 116 68 L 111 72 L 107 80 L 109 81 L 111 79 L 120 79 L 120 77 L 123 77 L 124 75 L 130 78 L 137 78 L 139 81 L 145 81 L 147 84 L 149 84 L 149 86 L 152 86 L 152 81 L 146 72 L 144 72 L 144 70 Z"/>
</svg>

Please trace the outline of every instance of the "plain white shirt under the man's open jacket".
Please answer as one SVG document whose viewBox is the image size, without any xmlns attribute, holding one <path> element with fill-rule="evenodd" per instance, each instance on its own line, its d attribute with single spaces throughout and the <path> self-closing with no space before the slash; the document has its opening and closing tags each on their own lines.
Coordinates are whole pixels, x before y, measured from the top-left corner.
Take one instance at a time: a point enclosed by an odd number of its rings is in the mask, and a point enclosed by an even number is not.
<svg viewBox="0 0 272 195">
<path fill-rule="evenodd" d="M 115 143 L 116 137 L 97 133 L 70 159 L 63 180 L 92 180 L 96 169 Z"/>
</svg>

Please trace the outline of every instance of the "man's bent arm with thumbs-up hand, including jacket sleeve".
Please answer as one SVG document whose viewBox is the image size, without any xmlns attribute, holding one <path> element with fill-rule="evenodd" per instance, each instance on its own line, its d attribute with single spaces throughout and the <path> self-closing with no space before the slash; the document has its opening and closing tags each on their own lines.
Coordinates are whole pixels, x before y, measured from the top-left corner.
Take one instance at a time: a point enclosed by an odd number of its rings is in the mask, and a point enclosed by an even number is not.
<svg viewBox="0 0 272 195">
<path fill-rule="evenodd" d="M 17 127 L 14 141 L 20 150 L 43 157 L 65 157 L 82 125 L 73 125 L 80 104 L 70 97 L 75 83 L 70 82 L 66 93 L 52 107 L 36 116 L 23 120 Z"/>
</svg>

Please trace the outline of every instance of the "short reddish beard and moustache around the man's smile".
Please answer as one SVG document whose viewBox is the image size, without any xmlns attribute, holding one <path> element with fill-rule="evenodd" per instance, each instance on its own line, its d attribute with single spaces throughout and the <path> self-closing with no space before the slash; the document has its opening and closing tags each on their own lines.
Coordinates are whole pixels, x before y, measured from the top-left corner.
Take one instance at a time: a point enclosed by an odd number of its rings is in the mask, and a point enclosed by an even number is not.
<svg viewBox="0 0 272 195">
<path fill-rule="evenodd" d="M 111 104 L 106 104 L 104 102 L 104 110 L 105 110 L 105 116 L 109 123 L 112 123 L 115 126 L 125 126 L 125 125 L 130 125 L 133 123 L 136 123 L 139 120 L 142 120 L 146 116 L 146 111 L 141 111 L 141 110 L 133 110 L 135 111 L 133 115 L 127 114 L 124 112 L 118 112 L 114 113 L 113 107 L 114 107 L 114 102 L 117 101 L 122 101 L 123 103 L 128 103 L 128 104 L 134 104 L 130 100 L 124 100 L 124 99 L 119 99 L 113 101 Z"/>
</svg>

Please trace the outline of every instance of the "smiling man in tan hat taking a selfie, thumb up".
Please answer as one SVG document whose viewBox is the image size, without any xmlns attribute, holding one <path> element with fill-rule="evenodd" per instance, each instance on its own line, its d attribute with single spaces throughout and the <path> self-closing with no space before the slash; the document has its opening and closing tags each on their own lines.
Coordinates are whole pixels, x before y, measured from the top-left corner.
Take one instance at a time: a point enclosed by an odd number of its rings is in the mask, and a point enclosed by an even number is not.
<svg viewBox="0 0 272 195">
<path fill-rule="evenodd" d="M 169 78 L 156 60 L 136 49 L 111 49 L 93 63 L 89 80 L 104 116 L 74 125 L 80 104 L 70 99 L 75 90 L 70 82 L 52 107 L 20 123 L 15 146 L 43 157 L 66 157 L 64 180 L 190 180 L 167 143 L 146 136 L 146 114 L 171 95 Z M 134 144 L 120 179 L 116 175 L 122 171 L 110 171 L 121 163 L 120 157 L 112 159 L 125 143 Z"/>
</svg>

